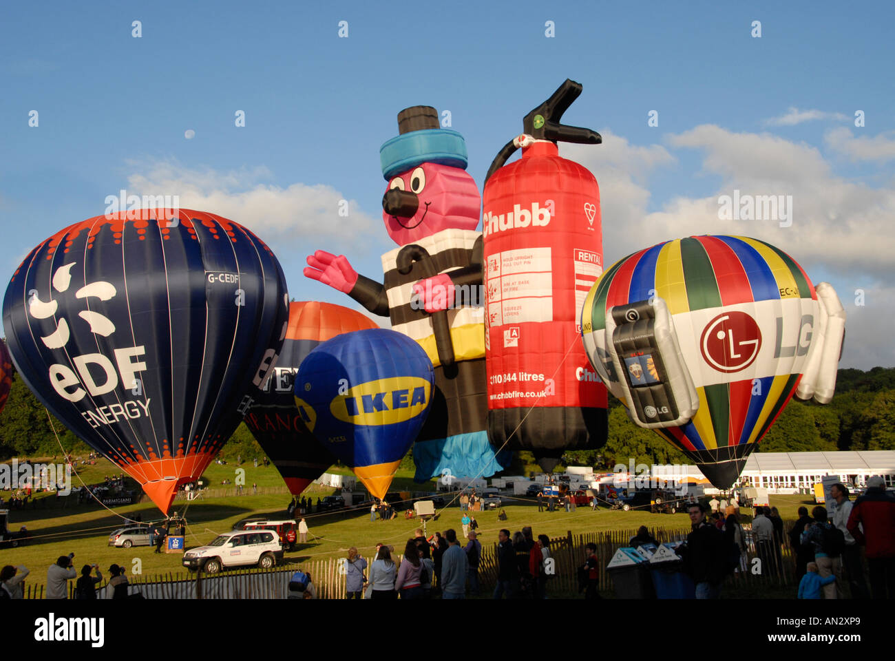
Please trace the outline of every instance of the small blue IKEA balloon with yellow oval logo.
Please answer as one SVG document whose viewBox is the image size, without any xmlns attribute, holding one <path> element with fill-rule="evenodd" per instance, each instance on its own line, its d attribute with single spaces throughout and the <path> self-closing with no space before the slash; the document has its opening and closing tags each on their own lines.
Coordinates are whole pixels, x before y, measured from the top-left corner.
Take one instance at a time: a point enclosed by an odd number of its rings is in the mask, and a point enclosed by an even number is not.
<svg viewBox="0 0 895 661">
<path fill-rule="evenodd" d="M 419 344 L 396 331 L 355 331 L 308 354 L 295 405 L 324 447 L 384 498 L 419 434 L 435 376 Z"/>
</svg>

